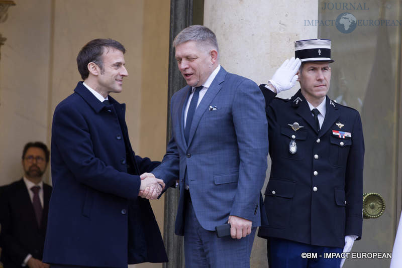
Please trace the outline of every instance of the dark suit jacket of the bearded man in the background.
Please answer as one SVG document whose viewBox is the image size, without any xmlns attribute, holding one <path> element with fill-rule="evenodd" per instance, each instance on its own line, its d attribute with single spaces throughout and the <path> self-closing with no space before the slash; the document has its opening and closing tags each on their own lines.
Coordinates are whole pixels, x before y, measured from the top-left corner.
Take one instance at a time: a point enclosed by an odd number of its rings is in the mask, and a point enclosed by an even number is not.
<svg viewBox="0 0 402 268">
<path fill-rule="evenodd" d="M 28 254 L 42 259 L 52 187 L 43 183 L 43 213 L 38 226 L 28 189 L 21 179 L 4 186 L 0 195 L 1 260 L 5 268 L 22 267 Z"/>
</svg>

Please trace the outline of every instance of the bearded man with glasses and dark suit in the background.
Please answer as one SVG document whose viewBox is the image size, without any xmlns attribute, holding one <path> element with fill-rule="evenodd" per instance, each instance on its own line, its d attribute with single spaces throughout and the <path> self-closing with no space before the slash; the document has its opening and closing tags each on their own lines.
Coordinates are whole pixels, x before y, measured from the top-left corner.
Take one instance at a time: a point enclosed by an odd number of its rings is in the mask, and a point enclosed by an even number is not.
<svg viewBox="0 0 402 268">
<path fill-rule="evenodd" d="M 49 267 L 42 262 L 52 187 L 43 182 L 49 150 L 28 143 L 22 154 L 24 176 L 3 187 L 0 196 L 1 260 L 5 268 Z"/>
</svg>

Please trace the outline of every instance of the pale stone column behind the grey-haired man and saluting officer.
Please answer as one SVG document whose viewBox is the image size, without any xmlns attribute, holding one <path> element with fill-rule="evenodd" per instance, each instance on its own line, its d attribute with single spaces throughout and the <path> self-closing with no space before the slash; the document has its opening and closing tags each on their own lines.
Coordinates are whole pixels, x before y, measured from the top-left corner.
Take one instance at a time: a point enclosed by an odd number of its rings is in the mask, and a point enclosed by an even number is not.
<svg viewBox="0 0 402 268">
<path fill-rule="evenodd" d="M 229 72 L 248 77 L 257 84 L 266 83 L 282 62 L 294 55 L 294 41 L 317 38 L 317 26 L 305 26 L 317 20 L 316 0 L 205 0 L 204 25 L 215 32 L 220 63 Z M 296 86 L 280 97 L 289 97 Z M 268 161 L 267 179 L 270 171 Z M 256 236 L 251 267 L 267 267 L 266 240 Z"/>
</svg>

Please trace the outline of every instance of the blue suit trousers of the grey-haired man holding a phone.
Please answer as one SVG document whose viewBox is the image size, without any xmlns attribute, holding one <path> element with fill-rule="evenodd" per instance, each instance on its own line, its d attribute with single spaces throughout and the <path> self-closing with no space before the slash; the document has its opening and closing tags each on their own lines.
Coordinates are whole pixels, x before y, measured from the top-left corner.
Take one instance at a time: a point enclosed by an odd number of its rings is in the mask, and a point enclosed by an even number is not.
<svg viewBox="0 0 402 268">
<path fill-rule="evenodd" d="M 184 260 L 186 268 L 248 268 L 255 231 L 241 239 L 218 237 L 198 222 L 191 201 L 185 201 Z"/>
</svg>

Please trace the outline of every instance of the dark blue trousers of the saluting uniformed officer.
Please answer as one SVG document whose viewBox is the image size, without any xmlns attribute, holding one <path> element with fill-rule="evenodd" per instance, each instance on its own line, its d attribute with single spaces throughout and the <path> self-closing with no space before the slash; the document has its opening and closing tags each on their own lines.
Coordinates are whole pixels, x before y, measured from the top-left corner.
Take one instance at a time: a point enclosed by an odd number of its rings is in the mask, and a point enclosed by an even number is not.
<svg viewBox="0 0 402 268">
<path fill-rule="evenodd" d="M 329 257 L 329 253 L 342 253 L 339 247 L 309 245 L 275 237 L 268 238 L 267 247 L 269 268 L 339 268 L 342 259 Z"/>
</svg>

